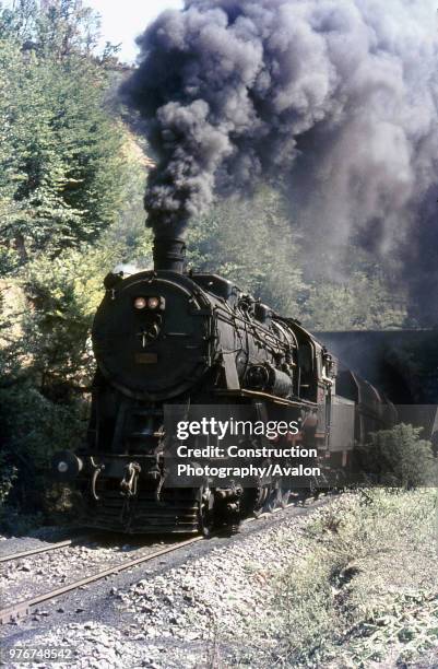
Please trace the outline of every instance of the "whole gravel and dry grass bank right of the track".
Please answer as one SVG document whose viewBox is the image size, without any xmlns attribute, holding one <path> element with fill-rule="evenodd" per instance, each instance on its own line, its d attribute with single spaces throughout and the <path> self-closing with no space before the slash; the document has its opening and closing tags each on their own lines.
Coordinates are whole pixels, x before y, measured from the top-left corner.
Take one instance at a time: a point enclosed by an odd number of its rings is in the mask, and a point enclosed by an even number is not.
<svg viewBox="0 0 438 669">
<path fill-rule="evenodd" d="M 5 649 L 70 649 L 56 666 L 84 669 L 431 669 L 435 496 L 344 494 L 247 523 L 47 602 L 5 625 Z"/>
</svg>

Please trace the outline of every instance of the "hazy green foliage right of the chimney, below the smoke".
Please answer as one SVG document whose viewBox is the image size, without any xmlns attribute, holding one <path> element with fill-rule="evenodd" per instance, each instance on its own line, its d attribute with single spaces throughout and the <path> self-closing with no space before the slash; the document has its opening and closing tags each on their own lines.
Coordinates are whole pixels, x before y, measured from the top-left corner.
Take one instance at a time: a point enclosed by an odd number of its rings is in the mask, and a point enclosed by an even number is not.
<svg viewBox="0 0 438 669">
<path fill-rule="evenodd" d="M 194 268 L 214 269 L 311 330 L 399 328 L 406 318 L 400 287 L 354 244 L 334 258 L 303 244 L 281 191 L 264 187 L 230 198 L 191 226 Z"/>
</svg>

